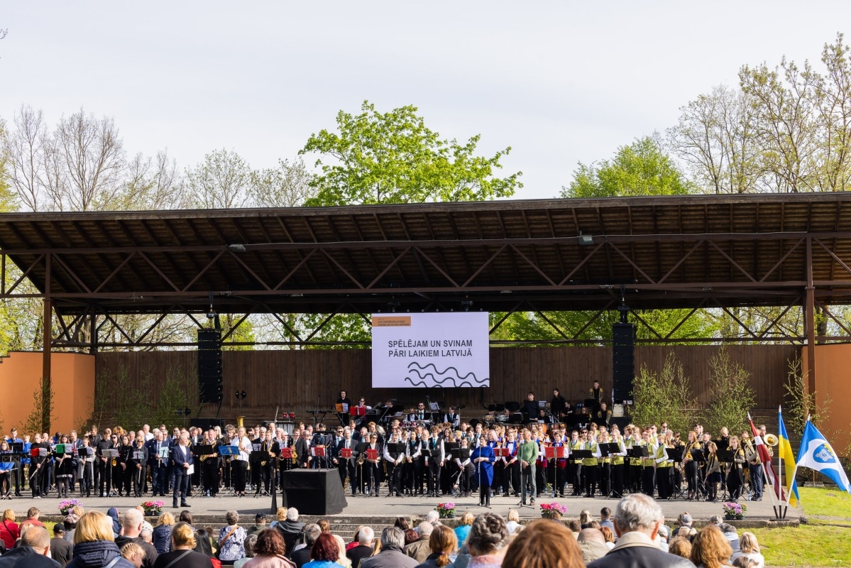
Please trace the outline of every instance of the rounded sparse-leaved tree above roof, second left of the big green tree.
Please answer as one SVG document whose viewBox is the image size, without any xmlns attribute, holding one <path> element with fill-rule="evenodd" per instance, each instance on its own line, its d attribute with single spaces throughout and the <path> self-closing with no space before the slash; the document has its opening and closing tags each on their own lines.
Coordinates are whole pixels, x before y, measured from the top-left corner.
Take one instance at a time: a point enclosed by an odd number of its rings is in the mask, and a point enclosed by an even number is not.
<svg viewBox="0 0 851 568">
<path fill-rule="evenodd" d="M 237 154 L 224 148 L 204 156 L 186 170 L 191 205 L 200 209 L 235 209 L 248 201 L 251 169 Z"/>
</svg>

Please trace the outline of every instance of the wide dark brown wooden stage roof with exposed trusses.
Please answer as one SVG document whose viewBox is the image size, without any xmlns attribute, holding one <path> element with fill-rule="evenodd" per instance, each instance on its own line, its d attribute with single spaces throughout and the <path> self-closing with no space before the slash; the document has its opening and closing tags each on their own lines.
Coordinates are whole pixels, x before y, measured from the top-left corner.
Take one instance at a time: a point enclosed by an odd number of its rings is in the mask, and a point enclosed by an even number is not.
<svg viewBox="0 0 851 568">
<path fill-rule="evenodd" d="M 0 249 L 63 313 L 842 304 L 851 193 L 14 213 Z"/>
</svg>

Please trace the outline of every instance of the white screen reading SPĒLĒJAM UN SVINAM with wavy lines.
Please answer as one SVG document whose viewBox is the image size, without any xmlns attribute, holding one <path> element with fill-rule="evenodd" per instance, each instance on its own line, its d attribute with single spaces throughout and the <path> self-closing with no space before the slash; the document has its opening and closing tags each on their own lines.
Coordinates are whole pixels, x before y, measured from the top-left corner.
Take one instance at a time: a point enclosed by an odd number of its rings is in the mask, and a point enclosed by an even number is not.
<svg viewBox="0 0 851 568">
<path fill-rule="evenodd" d="M 489 387 L 488 313 L 374 313 L 374 388 Z"/>
</svg>

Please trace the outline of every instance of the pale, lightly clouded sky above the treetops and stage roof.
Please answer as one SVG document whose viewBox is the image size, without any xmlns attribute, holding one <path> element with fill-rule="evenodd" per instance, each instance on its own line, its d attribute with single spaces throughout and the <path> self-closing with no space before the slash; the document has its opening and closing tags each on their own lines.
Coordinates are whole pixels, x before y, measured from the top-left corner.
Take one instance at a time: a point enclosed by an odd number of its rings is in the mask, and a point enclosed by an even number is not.
<svg viewBox="0 0 851 568">
<path fill-rule="evenodd" d="M 363 100 L 414 105 L 443 138 L 511 146 L 515 198 L 551 198 L 740 66 L 818 63 L 849 21 L 848 2 L 0 0 L 0 118 L 82 107 L 130 154 L 266 168 Z"/>
</svg>

